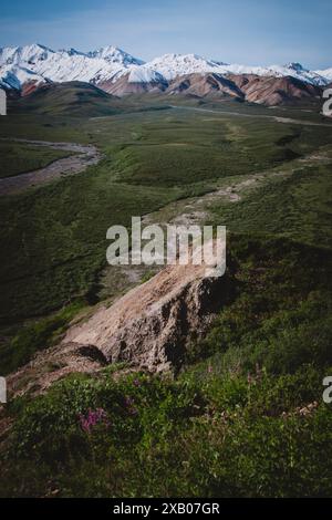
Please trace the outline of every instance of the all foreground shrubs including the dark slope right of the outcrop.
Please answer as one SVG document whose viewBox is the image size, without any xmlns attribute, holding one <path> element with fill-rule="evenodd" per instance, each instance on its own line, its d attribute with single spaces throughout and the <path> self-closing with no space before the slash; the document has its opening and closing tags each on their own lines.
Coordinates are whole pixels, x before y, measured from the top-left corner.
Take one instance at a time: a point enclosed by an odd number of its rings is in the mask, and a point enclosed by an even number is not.
<svg viewBox="0 0 332 520">
<path fill-rule="evenodd" d="M 8 405 L 3 496 L 331 495 L 331 253 L 229 243 L 234 299 L 176 377 L 106 367 Z"/>
</svg>

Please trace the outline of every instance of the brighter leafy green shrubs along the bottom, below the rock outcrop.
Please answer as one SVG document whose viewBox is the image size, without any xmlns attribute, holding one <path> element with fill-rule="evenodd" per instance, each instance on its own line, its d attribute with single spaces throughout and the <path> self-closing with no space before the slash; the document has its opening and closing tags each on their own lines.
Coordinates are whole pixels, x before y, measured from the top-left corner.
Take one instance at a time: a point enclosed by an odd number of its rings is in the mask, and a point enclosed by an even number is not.
<svg viewBox="0 0 332 520">
<path fill-rule="evenodd" d="M 204 385 L 69 377 L 17 407 L 3 489 L 10 479 L 11 495 L 28 496 L 329 496 L 332 410 L 319 404 L 321 382 L 310 366 L 250 379 L 210 374 Z M 100 406 L 106 422 L 85 431 L 80 414 Z"/>
</svg>

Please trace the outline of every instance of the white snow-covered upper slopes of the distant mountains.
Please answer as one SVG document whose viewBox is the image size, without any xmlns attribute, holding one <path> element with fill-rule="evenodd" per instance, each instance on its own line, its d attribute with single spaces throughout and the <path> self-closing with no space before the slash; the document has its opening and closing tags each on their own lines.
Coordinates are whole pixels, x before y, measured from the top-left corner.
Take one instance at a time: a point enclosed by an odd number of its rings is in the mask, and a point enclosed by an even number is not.
<svg viewBox="0 0 332 520">
<path fill-rule="evenodd" d="M 332 81 L 332 69 L 310 71 L 300 63 L 248 66 L 207 60 L 197 54 L 164 54 L 145 63 L 112 45 L 91 52 L 75 49 L 54 51 L 37 43 L 0 49 L 0 86 L 18 91 L 24 84 L 68 81 L 90 82 L 111 89 L 111 84 L 123 77 L 131 84 L 159 84 L 164 89 L 167 82 L 177 77 L 209 73 L 222 76 L 255 74 L 277 79 L 291 76 L 314 86 L 324 86 Z"/>
</svg>

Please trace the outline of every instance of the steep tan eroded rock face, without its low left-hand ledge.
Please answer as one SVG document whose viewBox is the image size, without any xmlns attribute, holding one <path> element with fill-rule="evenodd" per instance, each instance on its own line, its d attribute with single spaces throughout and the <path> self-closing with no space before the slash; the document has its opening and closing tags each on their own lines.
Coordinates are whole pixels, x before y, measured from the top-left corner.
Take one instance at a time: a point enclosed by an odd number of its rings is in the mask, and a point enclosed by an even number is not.
<svg viewBox="0 0 332 520">
<path fill-rule="evenodd" d="M 72 329 L 64 342 L 95 345 L 108 363 L 154 372 L 176 367 L 221 305 L 224 287 L 224 278 L 205 278 L 204 267 L 168 267 Z"/>
</svg>

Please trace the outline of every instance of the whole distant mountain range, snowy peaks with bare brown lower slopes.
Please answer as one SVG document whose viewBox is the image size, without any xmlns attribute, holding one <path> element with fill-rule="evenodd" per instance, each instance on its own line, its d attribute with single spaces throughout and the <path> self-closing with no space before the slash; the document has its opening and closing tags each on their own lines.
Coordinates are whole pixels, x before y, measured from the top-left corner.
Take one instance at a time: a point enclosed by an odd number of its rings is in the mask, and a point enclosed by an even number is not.
<svg viewBox="0 0 332 520">
<path fill-rule="evenodd" d="M 321 96 L 332 83 L 332 67 L 310 71 L 300 63 L 248 66 L 196 54 L 165 54 L 149 62 L 116 46 L 91 52 L 53 51 L 41 44 L 0 49 L 0 87 L 27 95 L 64 82 L 91 83 L 124 96 L 145 92 L 168 95 L 227 96 L 278 105 Z"/>
</svg>

